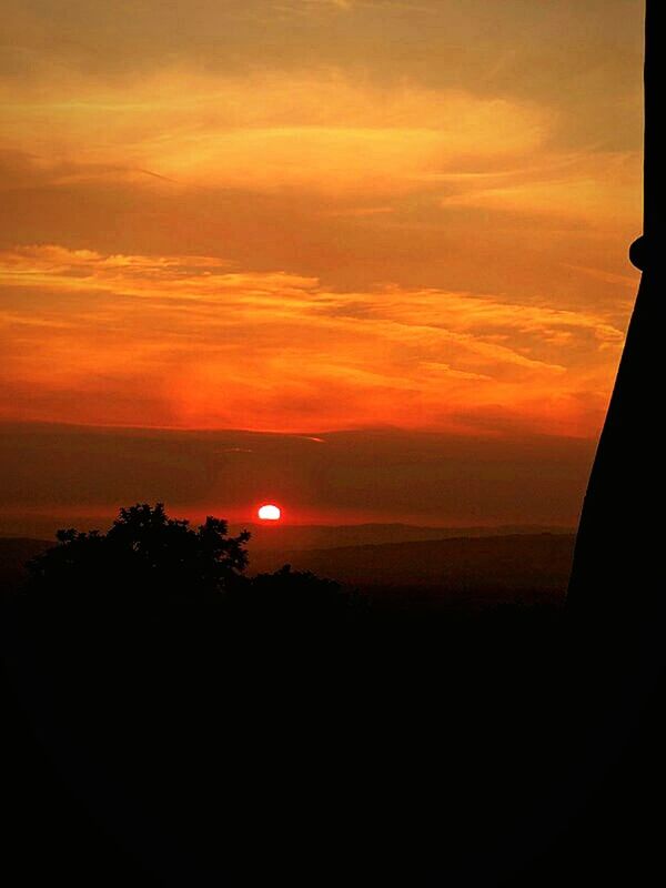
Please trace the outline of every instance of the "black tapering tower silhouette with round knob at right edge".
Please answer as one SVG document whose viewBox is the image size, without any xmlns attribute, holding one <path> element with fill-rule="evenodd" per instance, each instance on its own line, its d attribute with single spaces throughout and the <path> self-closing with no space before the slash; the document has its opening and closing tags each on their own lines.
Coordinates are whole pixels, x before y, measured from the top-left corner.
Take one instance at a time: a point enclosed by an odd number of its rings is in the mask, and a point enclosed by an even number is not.
<svg viewBox="0 0 666 888">
<path fill-rule="evenodd" d="M 666 597 L 666 442 L 664 415 L 666 314 L 664 260 L 665 137 L 657 129 L 659 51 L 657 0 L 646 3 L 644 234 L 629 255 L 642 271 L 608 413 L 583 505 L 567 596 L 572 624 L 591 644 L 643 637 L 660 619 Z M 654 506 L 654 517 L 646 509 Z"/>
</svg>

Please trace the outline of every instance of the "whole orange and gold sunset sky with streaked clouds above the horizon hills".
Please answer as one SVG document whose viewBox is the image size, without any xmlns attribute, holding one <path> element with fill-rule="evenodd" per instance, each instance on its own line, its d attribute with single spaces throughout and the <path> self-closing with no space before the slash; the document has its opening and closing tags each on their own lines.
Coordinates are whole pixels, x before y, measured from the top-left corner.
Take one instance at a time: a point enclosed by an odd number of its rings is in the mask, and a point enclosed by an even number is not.
<svg viewBox="0 0 666 888">
<path fill-rule="evenodd" d="M 265 490 L 573 525 L 637 286 L 642 29 L 635 0 L 8 0 L 2 521 L 60 516 L 93 435 L 71 514 Z"/>
</svg>

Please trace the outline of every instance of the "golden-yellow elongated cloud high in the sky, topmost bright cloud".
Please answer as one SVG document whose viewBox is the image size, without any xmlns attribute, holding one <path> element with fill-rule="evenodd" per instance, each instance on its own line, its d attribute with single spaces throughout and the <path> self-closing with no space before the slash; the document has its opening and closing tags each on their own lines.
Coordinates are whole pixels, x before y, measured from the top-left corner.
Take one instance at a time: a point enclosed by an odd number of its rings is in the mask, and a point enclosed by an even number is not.
<svg viewBox="0 0 666 888">
<path fill-rule="evenodd" d="M 213 77 L 163 70 L 132 84 L 6 91 L 7 143 L 49 159 L 58 181 L 149 171 L 182 184 L 315 192 L 413 190 L 462 163 L 533 151 L 549 127 L 534 103 L 340 71 Z M 48 161 L 47 161 L 48 162 Z"/>
</svg>

